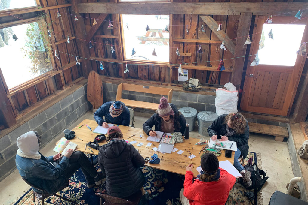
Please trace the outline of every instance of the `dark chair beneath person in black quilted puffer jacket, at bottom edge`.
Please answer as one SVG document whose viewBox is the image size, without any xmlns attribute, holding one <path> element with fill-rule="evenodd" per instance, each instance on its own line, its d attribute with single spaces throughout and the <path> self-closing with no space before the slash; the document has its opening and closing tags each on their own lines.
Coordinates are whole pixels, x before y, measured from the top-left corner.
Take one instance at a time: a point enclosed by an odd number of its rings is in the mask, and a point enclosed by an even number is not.
<svg viewBox="0 0 308 205">
<path fill-rule="evenodd" d="M 100 205 L 138 205 L 142 197 L 142 191 L 139 190 L 135 194 L 124 199 L 101 193 L 95 193 L 95 195 L 100 197 Z M 104 203 L 102 199 L 105 199 Z"/>
</svg>

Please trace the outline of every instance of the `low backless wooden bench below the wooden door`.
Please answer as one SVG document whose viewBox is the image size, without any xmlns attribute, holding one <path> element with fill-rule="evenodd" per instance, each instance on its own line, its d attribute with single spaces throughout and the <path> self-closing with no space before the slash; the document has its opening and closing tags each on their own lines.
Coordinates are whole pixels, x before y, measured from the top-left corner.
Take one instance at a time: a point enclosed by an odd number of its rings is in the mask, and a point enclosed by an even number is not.
<svg viewBox="0 0 308 205">
<path fill-rule="evenodd" d="M 288 129 L 285 127 L 279 127 L 268 124 L 259 124 L 249 122 L 249 132 L 261 133 L 265 135 L 274 135 L 275 141 L 282 142 L 283 139 L 289 137 Z"/>
</svg>

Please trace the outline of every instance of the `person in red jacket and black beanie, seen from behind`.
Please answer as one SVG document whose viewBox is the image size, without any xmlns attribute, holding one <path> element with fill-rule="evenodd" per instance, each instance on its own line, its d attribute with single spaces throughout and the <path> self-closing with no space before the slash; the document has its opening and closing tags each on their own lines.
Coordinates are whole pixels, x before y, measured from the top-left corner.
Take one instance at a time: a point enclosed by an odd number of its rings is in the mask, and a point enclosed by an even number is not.
<svg viewBox="0 0 308 205">
<path fill-rule="evenodd" d="M 193 164 L 186 167 L 184 188 L 180 191 L 182 205 L 225 205 L 235 177 L 219 168 L 213 153 L 201 157 L 201 175 L 193 183 Z"/>
</svg>

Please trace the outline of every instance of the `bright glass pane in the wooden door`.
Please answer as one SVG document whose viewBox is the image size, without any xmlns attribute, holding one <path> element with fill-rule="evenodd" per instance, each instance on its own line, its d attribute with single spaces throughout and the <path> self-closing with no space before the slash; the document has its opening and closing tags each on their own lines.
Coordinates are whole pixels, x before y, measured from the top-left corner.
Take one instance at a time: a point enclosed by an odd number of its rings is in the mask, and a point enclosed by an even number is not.
<svg viewBox="0 0 308 205">
<path fill-rule="evenodd" d="M 304 29 L 305 25 L 298 24 L 264 24 L 258 51 L 259 64 L 294 66 Z M 269 38 L 270 30 L 274 40 Z"/>
</svg>

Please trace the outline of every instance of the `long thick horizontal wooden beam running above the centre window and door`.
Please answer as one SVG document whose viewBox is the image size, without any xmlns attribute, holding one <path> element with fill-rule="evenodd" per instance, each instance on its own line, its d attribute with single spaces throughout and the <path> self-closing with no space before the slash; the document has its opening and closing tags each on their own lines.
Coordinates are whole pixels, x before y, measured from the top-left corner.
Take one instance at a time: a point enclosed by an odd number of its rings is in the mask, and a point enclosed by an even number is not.
<svg viewBox="0 0 308 205">
<path fill-rule="evenodd" d="M 253 15 L 294 16 L 299 8 L 308 8 L 302 2 L 142 2 L 142 3 L 79 3 L 80 13 L 108 14 L 200 14 L 200 15 L 240 15 L 252 12 Z M 308 16 L 308 10 L 303 10 Z"/>
</svg>

